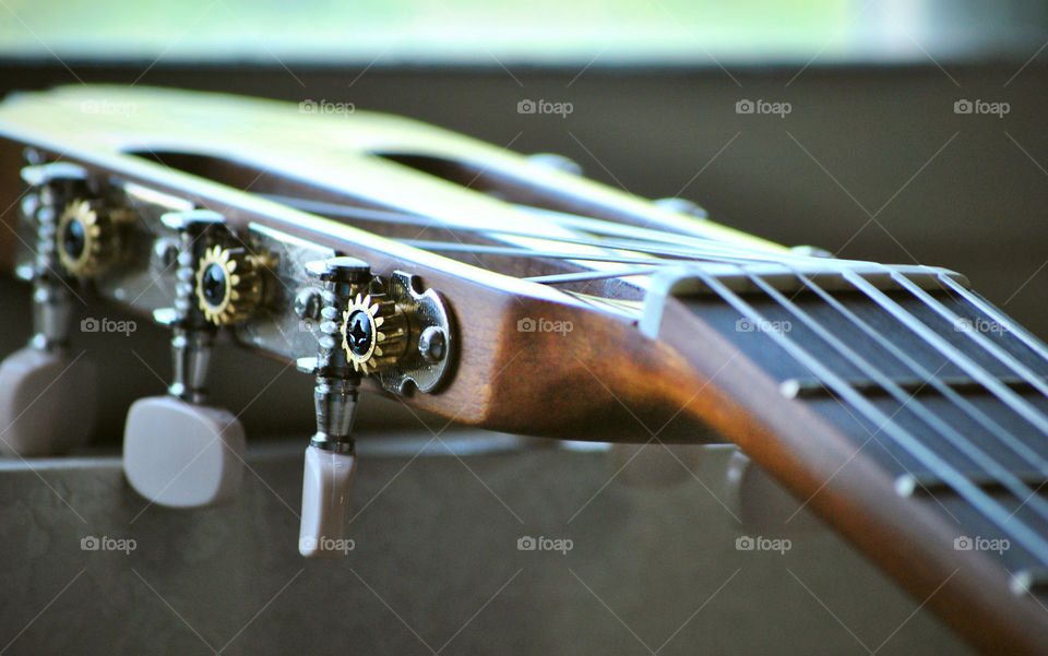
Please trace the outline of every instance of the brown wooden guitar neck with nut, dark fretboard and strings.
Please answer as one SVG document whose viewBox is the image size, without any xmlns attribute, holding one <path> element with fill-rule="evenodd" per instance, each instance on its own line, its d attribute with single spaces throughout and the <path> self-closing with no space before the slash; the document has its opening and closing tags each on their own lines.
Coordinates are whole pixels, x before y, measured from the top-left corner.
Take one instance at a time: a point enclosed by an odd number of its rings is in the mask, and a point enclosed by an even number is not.
<svg viewBox="0 0 1048 656">
<path fill-rule="evenodd" d="M 949 275 L 883 272 L 693 272 L 647 327 L 705 372 L 696 416 L 985 649 L 1038 653 L 1045 347 Z"/>
</svg>

